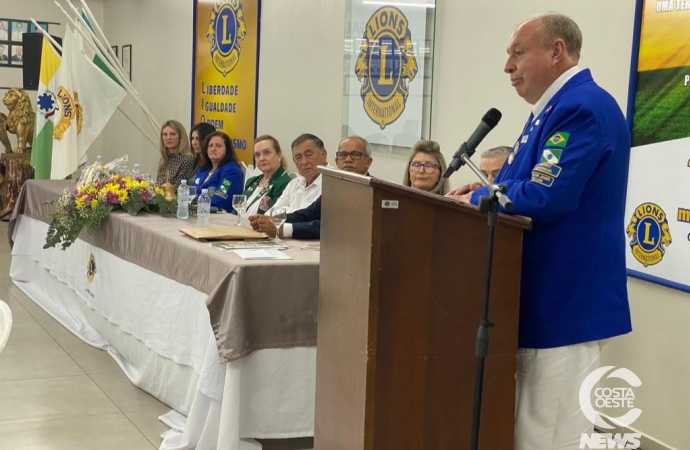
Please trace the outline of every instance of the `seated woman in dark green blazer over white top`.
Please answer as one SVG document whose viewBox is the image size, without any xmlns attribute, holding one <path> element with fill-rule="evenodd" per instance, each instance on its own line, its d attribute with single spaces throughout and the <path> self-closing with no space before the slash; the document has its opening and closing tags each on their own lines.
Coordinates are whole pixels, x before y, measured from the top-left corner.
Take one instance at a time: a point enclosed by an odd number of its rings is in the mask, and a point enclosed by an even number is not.
<svg viewBox="0 0 690 450">
<path fill-rule="evenodd" d="M 247 196 L 246 215 L 264 214 L 275 203 L 291 181 L 286 172 L 287 160 L 283 157 L 278 140 L 263 135 L 254 141 L 254 161 L 261 175 L 247 180 L 244 195 Z"/>
</svg>

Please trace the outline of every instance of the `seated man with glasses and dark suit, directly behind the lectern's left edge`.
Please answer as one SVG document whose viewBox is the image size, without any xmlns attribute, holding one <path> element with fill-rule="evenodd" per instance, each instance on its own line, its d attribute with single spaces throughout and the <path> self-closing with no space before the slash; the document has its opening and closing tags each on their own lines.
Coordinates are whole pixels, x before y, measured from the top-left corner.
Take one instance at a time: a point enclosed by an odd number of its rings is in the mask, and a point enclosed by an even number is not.
<svg viewBox="0 0 690 450">
<path fill-rule="evenodd" d="M 347 172 L 369 175 L 369 166 L 373 161 L 371 157 L 371 145 L 360 136 L 348 136 L 338 144 L 335 154 L 335 164 L 338 169 Z M 273 237 L 276 235 L 276 227 L 270 217 L 252 216 L 249 223 L 256 231 L 261 231 Z M 295 239 L 319 239 L 321 237 L 321 197 L 311 205 L 288 213 L 286 222 L 277 230 L 280 237 L 292 237 Z"/>
</svg>

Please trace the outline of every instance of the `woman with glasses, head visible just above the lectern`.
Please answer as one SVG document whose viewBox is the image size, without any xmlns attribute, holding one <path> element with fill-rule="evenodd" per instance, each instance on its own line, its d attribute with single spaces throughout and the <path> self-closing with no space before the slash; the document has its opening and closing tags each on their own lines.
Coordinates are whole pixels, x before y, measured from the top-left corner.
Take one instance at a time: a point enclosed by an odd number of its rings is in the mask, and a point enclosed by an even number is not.
<svg viewBox="0 0 690 450">
<path fill-rule="evenodd" d="M 447 167 L 438 142 L 421 140 L 412 147 L 403 185 L 432 194 L 445 195 L 450 191 L 450 183 L 447 179 L 441 178 L 441 174 Z"/>
</svg>

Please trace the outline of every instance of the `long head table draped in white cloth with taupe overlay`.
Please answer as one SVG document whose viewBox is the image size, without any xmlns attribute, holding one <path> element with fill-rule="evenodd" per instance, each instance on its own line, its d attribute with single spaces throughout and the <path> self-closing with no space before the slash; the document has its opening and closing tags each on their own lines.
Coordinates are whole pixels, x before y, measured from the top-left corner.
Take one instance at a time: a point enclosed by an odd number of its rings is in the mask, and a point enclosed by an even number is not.
<svg viewBox="0 0 690 450">
<path fill-rule="evenodd" d="M 235 450 L 240 438 L 311 435 L 318 252 L 290 241 L 292 260 L 242 260 L 182 235 L 191 221 L 124 212 L 66 251 L 44 250 L 51 202 L 70 188 L 24 185 L 9 226 L 10 275 L 75 334 L 106 348 L 135 384 L 189 415 L 186 430 L 169 420 L 179 433 L 161 448 Z M 300 395 L 286 397 L 295 386 Z M 252 409 L 248 424 L 243 412 Z"/>
</svg>

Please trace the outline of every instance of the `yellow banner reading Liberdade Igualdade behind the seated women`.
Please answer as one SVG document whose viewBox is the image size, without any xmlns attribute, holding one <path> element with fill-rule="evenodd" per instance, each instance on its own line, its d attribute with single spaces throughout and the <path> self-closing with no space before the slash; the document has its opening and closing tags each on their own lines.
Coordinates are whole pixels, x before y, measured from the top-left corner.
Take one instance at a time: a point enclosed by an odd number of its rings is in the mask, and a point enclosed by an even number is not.
<svg viewBox="0 0 690 450">
<path fill-rule="evenodd" d="M 256 127 L 260 0 L 196 0 L 194 4 L 194 123 L 231 138 L 252 162 Z"/>
</svg>

